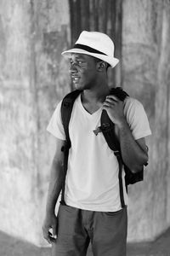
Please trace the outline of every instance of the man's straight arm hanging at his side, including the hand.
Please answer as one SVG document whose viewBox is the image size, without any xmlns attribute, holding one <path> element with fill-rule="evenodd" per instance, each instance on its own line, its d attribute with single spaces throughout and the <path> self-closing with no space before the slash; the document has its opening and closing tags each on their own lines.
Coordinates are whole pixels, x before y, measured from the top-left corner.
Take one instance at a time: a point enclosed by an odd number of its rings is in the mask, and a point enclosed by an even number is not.
<svg viewBox="0 0 170 256">
<path fill-rule="evenodd" d="M 64 145 L 65 141 L 57 139 L 54 160 L 51 166 L 46 216 L 42 225 L 43 236 L 49 243 L 53 242 L 55 240 L 55 236 L 57 235 L 55 206 L 62 188 L 64 154 L 61 151 L 61 148 Z M 53 234 L 49 233 L 50 229 L 53 230 Z"/>
</svg>

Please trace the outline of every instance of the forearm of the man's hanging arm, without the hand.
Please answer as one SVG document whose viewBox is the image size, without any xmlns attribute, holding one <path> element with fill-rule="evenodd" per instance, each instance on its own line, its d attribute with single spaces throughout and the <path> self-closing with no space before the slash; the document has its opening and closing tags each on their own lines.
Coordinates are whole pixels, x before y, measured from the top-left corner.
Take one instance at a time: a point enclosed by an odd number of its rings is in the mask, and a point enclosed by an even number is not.
<svg viewBox="0 0 170 256">
<path fill-rule="evenodd" d="M 61 163 L 56 160 L 51 166 L 51 176 L 48 187 L 48 200 L 46 206 L 46 213 L 54 213 L 56 202 L 59 198 L 59 193 L 62 188 L 63 171 Z"/>
</svg>

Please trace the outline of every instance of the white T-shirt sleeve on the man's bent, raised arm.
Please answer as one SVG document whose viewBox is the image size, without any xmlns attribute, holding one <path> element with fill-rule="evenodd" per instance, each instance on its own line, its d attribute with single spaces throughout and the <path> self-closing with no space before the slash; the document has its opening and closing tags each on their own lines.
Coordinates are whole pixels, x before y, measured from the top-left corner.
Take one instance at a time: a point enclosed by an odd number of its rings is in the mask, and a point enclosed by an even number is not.
<svg viewBox="0 0 170 256">
<path fill-rule="evenodd" d="M 138 100 L 128 97 L 124 112 L 135 140 L 151 134 L 144 107 Z"/>
</svg>

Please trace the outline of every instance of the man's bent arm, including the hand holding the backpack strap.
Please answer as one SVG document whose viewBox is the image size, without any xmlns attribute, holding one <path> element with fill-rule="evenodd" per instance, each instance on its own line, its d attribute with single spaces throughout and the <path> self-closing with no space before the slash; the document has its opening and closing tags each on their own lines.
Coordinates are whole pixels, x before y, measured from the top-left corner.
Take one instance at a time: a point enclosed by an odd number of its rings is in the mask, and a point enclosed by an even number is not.
<svg viewBox="0 0 170 256">
<path fill-rule="evenodd" d="M 132 172 L 139 172 L 148 161 L 147 147 L 144 138 L 134 140 L 123 113 L 123 104 L 116 96 L 107 96 L 103 108 L 116 125 L 123 162 Z"/>
</svg>

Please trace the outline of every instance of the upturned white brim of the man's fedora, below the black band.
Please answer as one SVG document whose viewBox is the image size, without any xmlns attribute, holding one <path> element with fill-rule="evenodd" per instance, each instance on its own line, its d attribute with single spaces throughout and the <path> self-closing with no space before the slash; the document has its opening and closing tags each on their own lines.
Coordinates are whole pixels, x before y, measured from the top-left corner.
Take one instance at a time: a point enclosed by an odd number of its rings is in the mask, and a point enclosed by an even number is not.
<svg viewBox="0 0 170 256">
<path fill-rule="evenodd" d="M 65 50 L 61 53 L 61 55 L 64 55 L 66 58 L 70 58 L 72 53 L 78 53 L 78 54 L 93 56 L 95 58 L 98 58 L 99 60 L 102 60 L 102 61 L 105 61 L 105 62 L 109 63 L 111 65 L 111 68 L 115 67 L 116 64 L 119 62 L 119 60 L 116 59 L 115 57 L 111 57 L 111 56 L 108 56 L 108 55 L 100 55 L 100 54 L 97 54 L 97 53 L 89 52 L 89 51 L 84 50 L 84 49 L 77 49 L 77 48 Z"/>
</svg>

